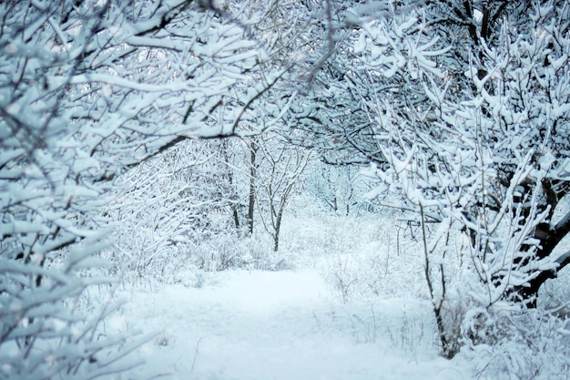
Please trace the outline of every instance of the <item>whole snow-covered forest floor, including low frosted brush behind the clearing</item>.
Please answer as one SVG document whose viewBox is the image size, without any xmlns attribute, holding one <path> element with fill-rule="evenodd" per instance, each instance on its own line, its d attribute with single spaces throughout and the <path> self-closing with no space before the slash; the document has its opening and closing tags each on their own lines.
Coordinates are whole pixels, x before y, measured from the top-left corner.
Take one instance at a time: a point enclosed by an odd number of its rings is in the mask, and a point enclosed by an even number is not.
<svg viewBox="0 0 570 380">
<path fill-rule="evenodd" d="M 154 280 L 123 282 L 105 334 L 151 338 L 132 355 L 142 365 L 117 380 L 568 379 L 556 356 L 567 343 L 548 329 L 554 338 L 536 341 L 545 352 L 505 342 L 443 359 L 418 231 L 399 218 L 293 216 L 280 252 L 259 237 L 203 250 L 210 267 L 231 257 L 245 269 L 197 271 L 188 252 Z"/>
</svg>

